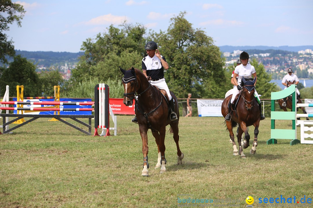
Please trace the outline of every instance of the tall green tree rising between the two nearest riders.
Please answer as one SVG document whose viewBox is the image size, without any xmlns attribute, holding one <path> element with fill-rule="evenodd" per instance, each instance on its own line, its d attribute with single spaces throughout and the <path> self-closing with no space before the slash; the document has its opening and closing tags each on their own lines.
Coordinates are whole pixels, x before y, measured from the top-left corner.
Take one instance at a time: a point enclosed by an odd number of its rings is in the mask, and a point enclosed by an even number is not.
<svg viewBox="0 0 313 208">
<path fill-rule="evenodd" d="M 167 33 L 151 34 L 165 56 L 169 69 L 165 78 L 177 97 L 221 98 L 229 88 L 224 59 L 213 39 L 203 30 L 194 29 L 185 18 L 186 12 L 171 18 Z"/>
</svg>

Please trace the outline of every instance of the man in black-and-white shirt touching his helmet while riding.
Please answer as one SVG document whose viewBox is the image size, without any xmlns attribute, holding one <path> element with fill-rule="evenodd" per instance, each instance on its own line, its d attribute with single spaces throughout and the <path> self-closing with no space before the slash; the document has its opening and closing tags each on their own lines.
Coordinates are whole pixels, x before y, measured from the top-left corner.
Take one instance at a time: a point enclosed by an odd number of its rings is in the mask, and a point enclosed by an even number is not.
<svg viewBox="0 0 313 208">
<path fill-rule="evenodd" d="M 169 106 L 171 110 L 171 121 L 177 120 L 177 115 L 175 113 L 174 99 L 170 94 L 170 90 L 166 84 L 164 78 L 164 70 L 168 69 L 168 64 L 164 58 L 161 56 L 160 51 L 157 50 L 157 44 L 154 41 L 149 41 L 146 43 L 145 50 L 148 56 L 144 57 L 141 62 L 142 73 L 150 80 L 151 85 L 155 85 L 159 89 L 164 89 L 167 93 L 169 99 Z M 135 106 L 136 109 L 136 106 Z M 136 113 L 136 112 L 135 112 Z M 138 123 L 136 114 L 131 120 L 134 123 Z"/>
</svg>

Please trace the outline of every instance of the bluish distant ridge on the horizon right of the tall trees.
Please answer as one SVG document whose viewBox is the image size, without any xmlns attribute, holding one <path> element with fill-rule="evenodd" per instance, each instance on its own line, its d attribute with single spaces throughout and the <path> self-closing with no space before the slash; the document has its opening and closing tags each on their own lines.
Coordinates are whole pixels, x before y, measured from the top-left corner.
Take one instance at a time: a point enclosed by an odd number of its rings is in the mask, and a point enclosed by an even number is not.
<svg viewBox="0 0 313 208">
<path fill-rule="evenodd" d="M 244 51 L 244 50 L 282 50 L 282 51 L 292 51 L 292 52 L 298 52 L 305 49 L 311 49 L 313 50 L 313 46 L 218 46 L 219 49 L 222 52 L 233 52 L 236 50 Z"/>
</svg>

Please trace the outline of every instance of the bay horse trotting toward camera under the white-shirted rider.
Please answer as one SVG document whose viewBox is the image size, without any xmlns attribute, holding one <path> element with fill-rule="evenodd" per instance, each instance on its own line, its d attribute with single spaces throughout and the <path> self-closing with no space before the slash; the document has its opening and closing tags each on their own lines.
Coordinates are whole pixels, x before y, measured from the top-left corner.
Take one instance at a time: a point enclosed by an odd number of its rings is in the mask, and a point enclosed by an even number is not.
<svg viewBox="0 0 313 208">
<path fill-rule="evenodd" d="M 243 88 L 241 90 L 241 93 L 239 93 L 238 101 L 235 99 L 234 103 L 237 101 L 237 105 L 235 109 L 232 109 L 231 112 L 231 119 L 230 121 L 225 121 L 226 126 L 229 132 L 229 137 L 232 140 L 233 143 L 233 155 L 240 155 L 242 158 L 245 158 L 243 149 L 248 148 L 249 141 L 250 141 L 250 135 L 247 130 L 248 126 L 254 126 L 254 141 L 252 143 L 252 148 L 250 150 L 251 154 L 255 154 L 256 147 L 258 146 L 258 134 L 259 134 L 259 123 L 260 123 L 260 112 L 259 112 L 259 105 L 256 99 L 254 99 L 254 83 L 256 81 L 256 78 L 254 78 L 252 81 L 248 80 L 246 81 L 244 77 L 242 78 L 243 81 Z M 228 114 L 228 103 L 229 100 L 232 98 L 232 95 L 229 95 L 227 98 L 224 99 L 222 103 L 222 115 L 225 116 Z M 233 105 L 232 105 L 233 108 Z M 237 135 L 237 142 L 239 145 L 239 154 L 237 145 L 234 141 L 234 133 L 233 128 L 239 125 L 239 132 Z M 245 142 L 241 144 L 241 136 L 242 134 L 245 134 Z"/>
</svg>

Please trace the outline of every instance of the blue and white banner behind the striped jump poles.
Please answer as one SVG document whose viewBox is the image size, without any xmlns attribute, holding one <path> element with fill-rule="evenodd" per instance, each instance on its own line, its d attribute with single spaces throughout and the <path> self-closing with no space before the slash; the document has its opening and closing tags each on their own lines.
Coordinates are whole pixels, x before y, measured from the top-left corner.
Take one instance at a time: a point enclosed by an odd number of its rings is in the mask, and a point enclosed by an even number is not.
<svg viewBox="0 0 313 208">
<path fill-rule="evenodd" d="M 16 101 L 16 98 L 13 98 L 13 101 Z M 54 101 L 54 99 L 23 99 L 23 102 L 38 102 L 38 101 Z M 82 98 L 60 98 L 60 102 L 84 102 L 91 101 L 91 99 L 82 99 Z M 23 108 L 54 108 L 55 105 L 23 105 Z M 16 105 L 14 105 L 16 107 Z M 59 108 L 92 108 L 91 105 L 60 105 Z M 30 111 L 24 110 L 24 114 L 32 115 L 53 115 L 56 111 Z M 91 111 L 59 111 L 60 115 L 91 115 Z M 17 114 L 17 111 L 14 110 L 14 114 Z"/>
</svg>

